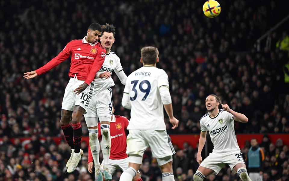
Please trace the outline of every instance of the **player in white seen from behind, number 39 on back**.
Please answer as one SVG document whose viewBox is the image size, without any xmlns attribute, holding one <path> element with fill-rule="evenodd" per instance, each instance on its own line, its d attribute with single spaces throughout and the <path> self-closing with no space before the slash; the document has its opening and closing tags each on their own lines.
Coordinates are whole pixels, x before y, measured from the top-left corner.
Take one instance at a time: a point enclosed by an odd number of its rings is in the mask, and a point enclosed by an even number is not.
<svg viewBox="0 0 289 181">
<path fill-rule="evenodd" d="M 164 70 L 156 68 L 158 54 L 157 48 L 152 46 L 141 49 L 140 62 L 143 67 L 128 76 L 123 91 L 122 105 L 131 109 L 131 119 L 126 140 L 129 167 L 120 176 L 120 181 L 133 179 L 148 147 L 151 147 L 153 157 L 157 158 L 163 180 L 175 180 L 172 171 L 172 155 L 175 150 L 166 132 L 163 106 L 173 125 L 172 129 L 178 126 L 179 120 L 173 116 L 168 75 Z"/>
</svg>

